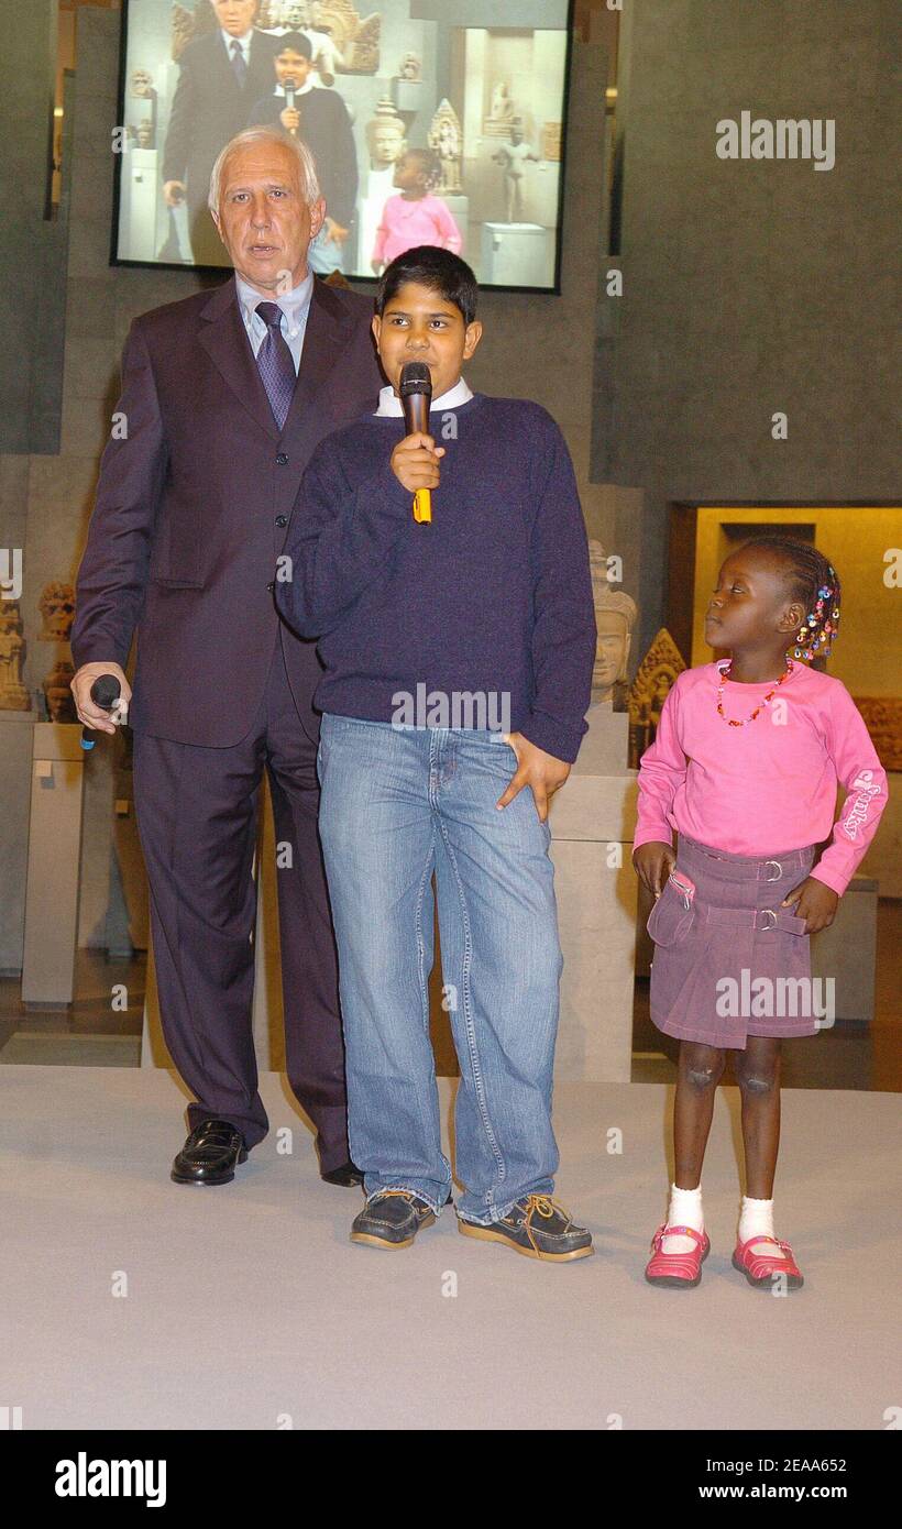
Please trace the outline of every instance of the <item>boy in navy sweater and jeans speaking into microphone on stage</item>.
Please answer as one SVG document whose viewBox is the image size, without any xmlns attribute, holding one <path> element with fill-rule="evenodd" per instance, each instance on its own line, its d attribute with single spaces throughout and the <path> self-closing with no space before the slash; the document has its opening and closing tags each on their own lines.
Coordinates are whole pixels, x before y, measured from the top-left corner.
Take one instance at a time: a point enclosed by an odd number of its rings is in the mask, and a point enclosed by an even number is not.
<svg viewBox="0 0 902 1529">
<path fill-rule="evenodd" d="M 367 1194 L 352 1240 L 407 1248 L 451 1199 L 428 1034 L 434 873 L 462 1073 L 459 1228 L 569 1261 L 593 1249 L 552 1199 L 561 951 L 547 806 L 586 731 L 589 549 L 553 419 L 460 376 L 482 336 L 475 304 L 472 271 L 449 251 L 420 246 L 387 268 L 373 332 L 390 385 L 315 451 L 277 589 L 324 664 L 320 832 Z M 442 445 L 405 436 L 408 361 L 430 368 Z M 431 492 L 427 524 L 417 489 Z"/>
</svg>

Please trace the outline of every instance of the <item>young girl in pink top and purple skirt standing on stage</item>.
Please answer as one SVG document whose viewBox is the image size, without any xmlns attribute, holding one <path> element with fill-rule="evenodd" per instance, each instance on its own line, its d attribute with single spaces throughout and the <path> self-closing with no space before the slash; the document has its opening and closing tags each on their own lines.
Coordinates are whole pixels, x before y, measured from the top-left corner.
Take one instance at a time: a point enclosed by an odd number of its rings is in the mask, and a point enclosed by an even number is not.
<svg viewBox="0 0 902 1529">
<path fill-rule="evenodd" d="M 738 1052 L 748 1191 L 732 1263 L 752 1286 L 771 1289 L 777 1274 L 803 1284 L 774 1234 L 780 1038 L 818 1029 L 809 934 L 833 922 L 887 801 L 848 691 L 800 662 L 829 654 L 838 621 L 839 579 L 815 547 L 786 535 L 746 543 L 720 569 L 705 619 L 709 645 L 731 656 L 679 676 L 642 755 L 633 864 L 657 899 L 651 1018 L 680 1040 L 676 1174 L 651 1284 L 702 1278 L 702 1162 L 728 1049 Z M 838 781 L 847 797 L 818 856 Z"/>
</svg>

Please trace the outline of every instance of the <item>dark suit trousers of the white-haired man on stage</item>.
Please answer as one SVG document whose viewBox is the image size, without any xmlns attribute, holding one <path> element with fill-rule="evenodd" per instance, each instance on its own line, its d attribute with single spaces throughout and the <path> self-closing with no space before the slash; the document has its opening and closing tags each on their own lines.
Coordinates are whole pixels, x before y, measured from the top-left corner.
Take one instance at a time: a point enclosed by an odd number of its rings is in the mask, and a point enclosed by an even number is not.
<svg viewBox="0 0 902 1529">
<path fill-rule="evenodd" d="M 310 648 L 310 680 L 320 667 Z M 211 749 L 135 734 L 135 803 L 150 881 L 156 982 L 173 1061 L 197 1096 L 191 1128 L 268 1131 L 248 1014 L 254 998 L 252 879 L 263 774 L 277 841 L 286 1073 L 318 1130 L 321 1171 L 350 1153 L 335 939 L 316 830 L 316 739 L 287 683 L 281 636 L 254 726 Z"/>
</svg>

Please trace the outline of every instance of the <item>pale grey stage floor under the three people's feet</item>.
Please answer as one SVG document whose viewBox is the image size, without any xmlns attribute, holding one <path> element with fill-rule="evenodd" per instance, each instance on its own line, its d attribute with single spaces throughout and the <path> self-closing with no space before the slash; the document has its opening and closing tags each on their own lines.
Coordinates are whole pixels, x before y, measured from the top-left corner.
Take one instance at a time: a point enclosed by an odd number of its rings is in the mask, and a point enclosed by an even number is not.
<svg viewBox="0 0 902 1529">
<path fill-rule="evenodd" d="M 271 1135 L 234 1183 L 182 1188 L 168 1073 L 0 1070 L 0 1404 L 23 1428 L 882 1430 L 902 1405 L 896 1095 L 784 1095 L 778 1231 L 807 1283 L 783 1298 L 729 1263 L 732 1089 L 697 1290 L 642 1278 L 662 1086 L 558 1089 L 558 1194 L 598 1249 L 560 1268 L 460 1237 L 449 1211 L 410 1251 L 353 1246 L 359 1191 L 320 1180 L 277 1075 L 263 1096 Z"/>
</svg>

